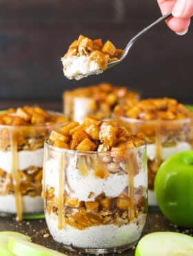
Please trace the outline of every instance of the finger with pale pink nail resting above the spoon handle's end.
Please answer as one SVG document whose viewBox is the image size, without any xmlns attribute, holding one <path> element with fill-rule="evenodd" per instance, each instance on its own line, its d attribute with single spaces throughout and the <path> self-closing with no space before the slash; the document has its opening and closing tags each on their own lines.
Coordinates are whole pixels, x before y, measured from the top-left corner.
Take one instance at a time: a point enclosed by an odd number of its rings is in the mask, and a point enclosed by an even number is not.
<svg viewBox="0 0 193 256">
<path fill-rule="evenodd" d="M 181 17 L 189 19 L 193 15 L 193 1 L 192 0 L 177 0 L 172 10 L 174 17 Z"/>
</svg>

